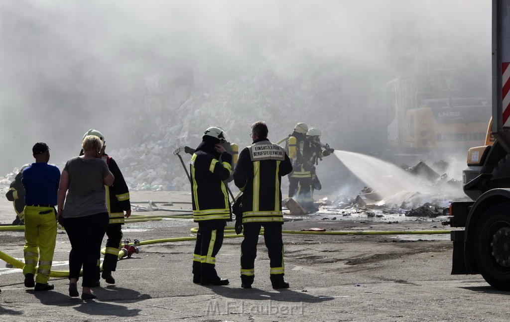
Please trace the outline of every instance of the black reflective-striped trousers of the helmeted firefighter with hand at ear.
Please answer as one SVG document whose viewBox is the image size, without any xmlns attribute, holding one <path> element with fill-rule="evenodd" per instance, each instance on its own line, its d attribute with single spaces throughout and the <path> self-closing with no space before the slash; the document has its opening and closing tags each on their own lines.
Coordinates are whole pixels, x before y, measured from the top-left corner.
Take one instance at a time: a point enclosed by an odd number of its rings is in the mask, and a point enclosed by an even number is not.
<svg viewBox="0 0 510 322">
<path fill-rule="evenodd" d="M 195 251 L 193 254 L 193 274 L 201 280 L 217 281 L 216 254 L 223 244 L 225 221 L 202 221 L 198 223 Z"/>
</svg>

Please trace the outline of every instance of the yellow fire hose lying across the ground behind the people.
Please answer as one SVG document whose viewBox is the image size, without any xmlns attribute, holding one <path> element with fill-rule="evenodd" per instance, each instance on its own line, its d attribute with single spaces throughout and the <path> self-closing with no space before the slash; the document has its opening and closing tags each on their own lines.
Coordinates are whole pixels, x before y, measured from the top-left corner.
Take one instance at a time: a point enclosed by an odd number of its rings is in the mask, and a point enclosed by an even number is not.
<svg viewBox="0 0 510 322">
<path fill-rule="evenodd" d="M 133 217 L 133 216 L 131 216 Z M 125 222 L 146 222 L 146 221 L 157 221 L 162 220 L 163 218 L 193 218 L 193 216 L 172 216 L 172 215 L 163 215 L 163 216 L 134 216 L 134 219 L 126 219 Z M 139 218 L 144 217 L 144 218 Z M 148 217 L 148 218 L 147 218 Z M 7 229 L 8 228 L 8 229 Z M 24 226 L 0 226 L 0 231 L 6 230 L 24 230 Z M 191 233 L 197 233 L 198 227 L 194 227 L 190 229 Z M 301 230 L 282 230 L 284 234 L 303 234 L 303 235 L 404 235 L 404 234 L 449 234 L 450 230 L 414 230 L 414 231 L 404 231 L 404 230 L 392 230 L 392 231 L 301 231 Z M 261 234 L 264 234 L 264 228 L 261 229 Z M 237 238 L 242 237 L 242 234 L 236 234 L 234 227 L 227 226 L 225 227 L 224 238 Z M 137 243 L 137 246 L 141 245 L 150 245 L 150 244 L 158 244 L 158 243 L 173 243 L 175 241 L 185 241 L 185 240 L 195 240 L 196 236 L 188 236 L 188 237 L 174 237 L 174 238 L 163 238 L 163 239 L 151 239 L 144 240 Z M 133 245 L 131 243 L 129 245 Z M 101 250 L 101 253 L 105 253 L 105 249 Z M 6 253 L 0 251 L 0 259 L 5 262 L 17 267 L 18 269 L 23 269 L 24 263 L 20 260 L 17 260 Z M 102 266 L 102 264 L 101 264 Z M 81 273 L 80 273 L 81 274 Z M 49 274 L 50 277 L 69 277 L 69 271 L 51 271 Z"/>
</svg>

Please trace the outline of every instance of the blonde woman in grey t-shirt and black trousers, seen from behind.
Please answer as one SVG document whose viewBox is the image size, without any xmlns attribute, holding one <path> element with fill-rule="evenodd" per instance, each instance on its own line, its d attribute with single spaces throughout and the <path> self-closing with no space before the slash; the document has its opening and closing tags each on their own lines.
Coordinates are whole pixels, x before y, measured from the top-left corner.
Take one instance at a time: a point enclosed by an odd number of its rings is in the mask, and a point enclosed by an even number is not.
<svg viewBox="0 0 510 322">
<path fill-rule="evenodd" d="M 77 283 L 83 266 L 83 300 L 96 298 L 90 287 L 109 222 L 105 185 L 112 185 L 114 177 L 100 158 L 102 147 L 103 142 L 96 136 L 83 139 L 84 155 L 67 161 L 58 194 L 57 219 L 71 243 L 69 296 L 79 296 Z"/>
</svg>

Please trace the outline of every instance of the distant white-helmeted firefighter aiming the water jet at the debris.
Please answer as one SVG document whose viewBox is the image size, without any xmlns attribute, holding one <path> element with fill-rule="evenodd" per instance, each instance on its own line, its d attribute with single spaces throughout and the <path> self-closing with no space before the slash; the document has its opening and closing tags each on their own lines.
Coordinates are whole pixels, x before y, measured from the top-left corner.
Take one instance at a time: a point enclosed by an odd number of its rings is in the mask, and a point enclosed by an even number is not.
<svg viewBox="0 0 510 322">
<path fill-rule="evenodd" d="M 301 193 L 299 202 L 309 212 L 319 210 L 314 205 L 314 191 L 322 188 L 315 166 L 318 165 L 319 160 L 322 160 L 322 157 L 328 156 L 334 151 L 329 148 L 329 145 L 322 145 L 321 136 L 322 131 L 319 128 L 310 127 L 307 131 L 308 144 L 303 152 L 303 168 L 309 172 L 309 176 L 302 180 L 303 183 L 299 187 Z"/>
</svg>

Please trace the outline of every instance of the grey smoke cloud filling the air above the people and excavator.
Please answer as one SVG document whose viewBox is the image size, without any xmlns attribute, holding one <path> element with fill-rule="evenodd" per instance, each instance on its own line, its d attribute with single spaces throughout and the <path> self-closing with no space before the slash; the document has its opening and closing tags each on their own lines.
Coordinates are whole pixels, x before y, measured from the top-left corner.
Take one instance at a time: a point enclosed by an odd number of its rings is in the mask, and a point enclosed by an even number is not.
<svg viewBox="0 0 510 322">
<path fill-rule="evenodd" d="M 112 150 L 164 139 L 151 134 L 162 129 L 192 146 L 204 128 L 228 123 L 242 147 L 250 143 L 246 126 L 262 118 L 274 141 L 305 122 L 321 127 L 334 148 L 370 153 L 386 132 L 386 82 L 426 72 L 430 50 L 449 48 L 445 60 L 463 71 L 462 88 L 490 96 L 490 7 L 477 0 L 0 0 L 0 173 L 32 162 L 36 142 L 52 148 L 50 163 L 64 162 L 89 128 L 103 132 Z M 267 79 L 284 85 L 257 87 Z M 242 86 L 259 90 L 242 106 L 215 94 Z M 259 98 L 262 107 L 253 103 Z M 229 119 L 238 112 L 243 122 Z M 183 122 L 191 113 L 199 121 Z"/>
</svg>

